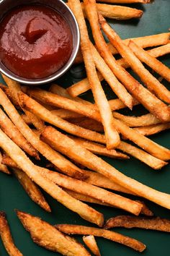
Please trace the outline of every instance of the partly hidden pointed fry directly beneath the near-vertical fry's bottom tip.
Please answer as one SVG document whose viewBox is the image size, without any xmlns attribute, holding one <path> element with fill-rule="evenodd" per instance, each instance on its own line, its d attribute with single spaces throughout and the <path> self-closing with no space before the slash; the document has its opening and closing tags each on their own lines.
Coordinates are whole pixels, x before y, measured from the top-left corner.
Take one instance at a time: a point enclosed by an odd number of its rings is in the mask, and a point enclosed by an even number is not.
<svg viewBox="0 0 170 256">
<path fill-rule="evenodd" d="M 129 159 L 128 155 L 124 155 L 116 150 L 107 150 L 104 145 L 94 143 L 89 140 L 83 140 L 78 137 L 71 137 L 71 139 L 96 155 L 106 155 L 109 158 Z"/>
</svg>

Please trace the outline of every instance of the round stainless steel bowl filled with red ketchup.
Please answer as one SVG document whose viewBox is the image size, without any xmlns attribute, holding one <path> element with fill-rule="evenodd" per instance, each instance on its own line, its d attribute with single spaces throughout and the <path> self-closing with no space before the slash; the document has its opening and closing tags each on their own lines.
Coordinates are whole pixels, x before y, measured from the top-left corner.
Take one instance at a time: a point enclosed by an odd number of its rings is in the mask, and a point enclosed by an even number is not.
<svg viewBox="0 0 170 256">
<path fill-rule="evenodd" d="M 29 4 L 27 4 L 29 2 Z M 0 1 L 0 71 L 28 85 L 61 77 L 79 51 L 79 26 L 61 0 Z"/>
</svg>

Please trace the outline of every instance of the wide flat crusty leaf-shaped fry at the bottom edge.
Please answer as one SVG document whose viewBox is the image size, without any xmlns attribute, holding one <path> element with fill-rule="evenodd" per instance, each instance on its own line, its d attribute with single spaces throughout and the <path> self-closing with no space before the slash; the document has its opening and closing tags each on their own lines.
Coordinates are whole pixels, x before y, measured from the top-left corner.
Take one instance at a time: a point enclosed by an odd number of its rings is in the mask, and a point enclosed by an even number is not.
<svg viewBox="0 0 170 256">
<path fill-rule="evenodd" d="M 30 233 L 33 242 L 41 247 L 67 256 L 90 256 L 89 252 L 76 239 L 62 234 L 40 218 L 19 210 L 17 210 L 17 217 L 24 229 Z"/>
</svg>

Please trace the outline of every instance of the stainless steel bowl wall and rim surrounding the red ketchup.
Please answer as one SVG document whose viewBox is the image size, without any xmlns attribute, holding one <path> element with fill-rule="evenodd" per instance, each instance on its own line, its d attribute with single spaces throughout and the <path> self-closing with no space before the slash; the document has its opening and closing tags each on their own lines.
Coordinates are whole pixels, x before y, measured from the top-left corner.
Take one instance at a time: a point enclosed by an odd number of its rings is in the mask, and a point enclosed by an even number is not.
<svg viewBox="0 0 170 256">
<path fill-rule="evenodd" d="M 71 33 L 73 35 L 73 51 L 68 59 L 67 63 L 58 70 L 58 72 L 55 72 L 54 74 L 50 75 L 49 77 L 45 77 L 42 79 L 37 80 L 29 80 L 27 78 L 19 77 L 17 74 L 14 74 L 9 69 L 7 69 L 4 64 L 1 63 L 0 60 L 0 71 L 4 73 L 7 77 L 12 78 L 12 80 L 16 80 L 17 82 L 21 82 L 23 84 L 27 85 L 40 85 L 45 84 L 48 82 L 51 82 L 53 80 L 58 79 L 58 77 L 61 77 L 73 64 L 74 59 L 76 58 L 76 54 L 79 50 L 79 43 L 80 43 L 80 33 L 79 33 L 79 26 L 76 22 L 76 18 L 73 15 L 73 12 L 71 12 L 71 9 L 67 7 L 67 5 L 61 1 L 61 0 L 0 0 L 0 21 L 3 19 L 6 12 L 8 12 L 10 9 L 21 6 L 23 4 L 43 4 L 47 7 L 51 7 L 55 9 L 57 12 L 59 12 L 68 22 L 68 25 L 71 28 Z"/>
</svg>

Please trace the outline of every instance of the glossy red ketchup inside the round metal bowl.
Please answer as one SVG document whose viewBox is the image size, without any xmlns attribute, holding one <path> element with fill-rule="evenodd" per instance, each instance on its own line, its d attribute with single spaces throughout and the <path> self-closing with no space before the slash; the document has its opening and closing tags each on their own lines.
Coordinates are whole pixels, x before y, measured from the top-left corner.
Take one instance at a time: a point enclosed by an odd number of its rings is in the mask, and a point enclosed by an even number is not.
<svg viewBox="0 0 170 256">
<path fill-rule="evenodd" d="M 50 76 L 66 64 L 72 48 L 68 23 L 50 7 L 20 6 L 0 22 L 1 62 L 19 77 Z"/>
</svg>

